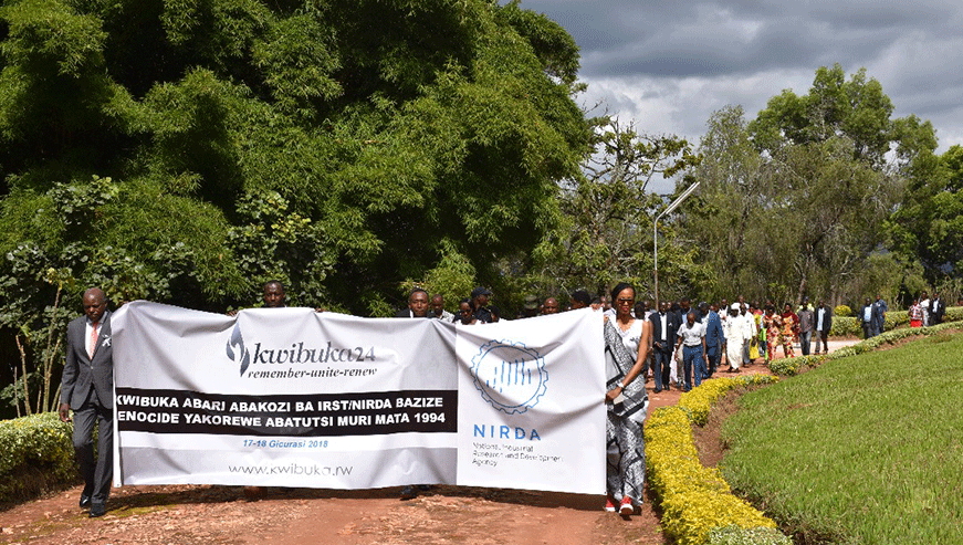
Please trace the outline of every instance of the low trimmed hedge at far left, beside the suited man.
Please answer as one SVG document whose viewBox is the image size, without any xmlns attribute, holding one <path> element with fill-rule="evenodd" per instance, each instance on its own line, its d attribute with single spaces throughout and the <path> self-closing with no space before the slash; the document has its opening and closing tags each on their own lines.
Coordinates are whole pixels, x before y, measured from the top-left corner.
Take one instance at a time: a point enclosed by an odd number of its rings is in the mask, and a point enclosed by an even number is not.
<svg viewBox="0 0 963 545">
<path fill-rule="evenodd" d="M 56 412 L 0 421 L 0 503 L 76 480 L 71 433 Z"/>
</svg>

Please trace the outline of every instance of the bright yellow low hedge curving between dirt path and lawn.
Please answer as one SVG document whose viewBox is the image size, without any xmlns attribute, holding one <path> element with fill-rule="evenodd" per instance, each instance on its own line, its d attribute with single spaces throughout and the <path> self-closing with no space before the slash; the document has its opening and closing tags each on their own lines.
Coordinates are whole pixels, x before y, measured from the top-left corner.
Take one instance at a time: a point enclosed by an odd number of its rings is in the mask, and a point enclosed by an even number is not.
<svg viewBox="0 0 963 545">
<path fill-rule="evenodd" d="M 656 409 L 645 426 L 646 472 L 662 510 L 662 528 L 682 545 L 789 545 L 776 523 L 734 496 L 715 468 L 699 461 L 692 425 L 703 425 L 712 403 L 728 390 L 778 380 L 767 375 L 714 378 Z"/>
</svg>

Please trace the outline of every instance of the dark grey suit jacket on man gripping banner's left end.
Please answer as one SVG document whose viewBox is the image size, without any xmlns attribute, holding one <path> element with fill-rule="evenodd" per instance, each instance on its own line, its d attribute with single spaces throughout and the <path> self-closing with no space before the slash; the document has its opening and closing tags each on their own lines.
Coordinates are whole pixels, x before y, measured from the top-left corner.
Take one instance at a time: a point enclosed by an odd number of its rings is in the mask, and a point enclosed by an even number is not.
<svg viewBox="0 0 963 545">
<path fill-rule="evenodd" d="M 61 402 L 77 410 L 87 400 L 91 389 L 106 409 L 114 408 L 114 347 L 111 343 L 111 311 L 104 312 L 97 332 L 94 358 L 87 356 L 86 316 L 71 321 L 66 327 L 66 360 L 61 380 Z"/>
</svg>

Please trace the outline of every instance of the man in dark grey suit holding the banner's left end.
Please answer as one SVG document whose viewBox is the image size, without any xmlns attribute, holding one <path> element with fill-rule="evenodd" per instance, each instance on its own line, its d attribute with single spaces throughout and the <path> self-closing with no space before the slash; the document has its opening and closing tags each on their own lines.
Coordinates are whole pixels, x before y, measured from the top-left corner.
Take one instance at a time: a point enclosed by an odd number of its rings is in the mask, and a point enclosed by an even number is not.
<svg viewBox="0 0 963 545">
<path fill-rule="evenodd" d="M 84 476 L 80 505 L 90 507 L 91 517 L 95 517 L 106 513 L 114 474 L 114 349 L 111 346 L 111 311 L 104 292 L 91 287 L 84 292 L 83 304 L 84 316 L 67 325 L 60 419 L 71 421 L 70 409 L 73 409 L 74 451 Z"/>
</svg>

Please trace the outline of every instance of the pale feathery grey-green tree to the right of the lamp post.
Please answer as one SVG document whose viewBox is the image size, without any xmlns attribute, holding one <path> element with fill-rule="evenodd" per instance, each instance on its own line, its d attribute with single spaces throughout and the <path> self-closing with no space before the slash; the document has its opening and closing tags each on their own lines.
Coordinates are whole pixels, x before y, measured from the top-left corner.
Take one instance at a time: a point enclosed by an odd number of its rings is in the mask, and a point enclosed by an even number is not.
<svg viewBox="0 0 963 545">
<path fill-rule="evenodd" d="M 865 287 L 857 276 L 885 241 L 879 227 L 899 199 L 899 169 L 877 165 L 865 135 L 860 144 L 844 130 L 820 134 L 818 124 L 786 124 L 773 140 L 763 128 L 776 126 L 770 124 L 779 117 L 775 111 L 792 109 L 784 107 L 787 96 L 771 101 L 753 123 L 740 107 L 710 118 L 699 148 L 703 161 L 693 172 L 702 182 L 698 208 L 687 217 L 716 274 L 706 286 L 710 297 L 798 301 L 818 293 L 848 301 L 850 290 Z M 820 112 L 834 111 L 818 103 Z M 883 293 L 891 297 L 897 287 Z"/>
</svg>

